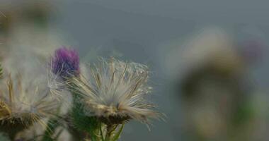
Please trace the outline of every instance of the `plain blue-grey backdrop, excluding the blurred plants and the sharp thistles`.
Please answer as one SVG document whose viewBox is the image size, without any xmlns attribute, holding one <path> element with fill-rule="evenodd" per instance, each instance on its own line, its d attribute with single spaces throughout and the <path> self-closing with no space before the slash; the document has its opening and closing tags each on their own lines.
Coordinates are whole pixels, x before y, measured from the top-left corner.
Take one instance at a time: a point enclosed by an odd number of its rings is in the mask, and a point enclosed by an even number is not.
<svg viewBox="0 0 269 141">
<path fill-rule="evenodd" d="M 50 24 L 67 33 L 69 46 L 78 47 L 85 60 L 96 56 L 119 56 L 150 66 L 154 95 L 151 101 L 166 114 L 166 121 L 146 125 L 132 121 L 121 140 L 184 140 L 181 136 L 181 105 L 164 73 L 162 44 L 182 39 L 202 27 L 222 27 L 234 35 L 248 26 L 267 43 L 269 8 L 266 1 L 194 0 L 76 0 L 55 1 Z M 90 51 L 90 52 L 89 52 Z M 92 53 L 91 53 L 92 52 Z M 268 49 L 263 61 L 251 68 L 251 81 L 269 84 Z"/>
</svg>

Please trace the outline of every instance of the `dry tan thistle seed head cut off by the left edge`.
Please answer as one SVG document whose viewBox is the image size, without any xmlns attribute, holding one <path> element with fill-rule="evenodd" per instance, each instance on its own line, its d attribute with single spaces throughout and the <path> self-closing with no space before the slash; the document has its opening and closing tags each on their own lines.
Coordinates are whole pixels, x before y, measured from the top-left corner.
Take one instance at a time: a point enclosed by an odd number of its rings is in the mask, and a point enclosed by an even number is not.
<svg viewBox="0 0 269 141">
<path fill-rule="evenodd" d="M 17 133 L 35 122 L 46 126 L 43 119 L 56 114 L 58 103 L 44 78 L 26 80 L 8 75 L 0 85 L 0 130 Z"/>
</svg>

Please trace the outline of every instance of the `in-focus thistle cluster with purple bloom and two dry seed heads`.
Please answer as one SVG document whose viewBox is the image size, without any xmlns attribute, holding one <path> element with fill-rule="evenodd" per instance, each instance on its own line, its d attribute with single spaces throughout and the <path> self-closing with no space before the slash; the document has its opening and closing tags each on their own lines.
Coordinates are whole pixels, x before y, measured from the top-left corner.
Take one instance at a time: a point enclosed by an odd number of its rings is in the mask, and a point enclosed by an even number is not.
<svg viewBox="0 0 269 141">
<path fill-rule="evenodd" d="M 47 79 L 41 79 L 46 83 L 23 81 L 23 74 L 5 75 L 0 69 L 0 131 L 15 140 L 39 123 L 44 131 L 33 140 L 59 140 L 65 129 L 70 140 L 115 141 L 129 121 L 149 125 L 161 117 L 146 99 L 152 89 L 147 66 L 113 58 L 88 63 L 84 71 L 80 66 L 79 54 L 62 47 L 50 59 Z M 69 94 L 67 112 L 61 112 Z"/>
</svg>

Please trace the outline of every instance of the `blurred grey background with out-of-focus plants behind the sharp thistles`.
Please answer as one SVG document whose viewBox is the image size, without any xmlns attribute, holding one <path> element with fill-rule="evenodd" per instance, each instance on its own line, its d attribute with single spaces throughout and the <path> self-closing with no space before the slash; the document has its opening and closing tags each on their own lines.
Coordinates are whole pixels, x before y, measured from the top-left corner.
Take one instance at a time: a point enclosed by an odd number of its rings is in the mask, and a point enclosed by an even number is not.
<svg viewBox="0 0 269 141">
<path fill-rule="evenodd" d="M 268 12 L 250 0 L 1 0 L 0 57 L 66 46 L 82 62 L 147 64 L 167 117 L 150 131 L 132 121 L 121 140 L 269 140 Z"/>
</svg>

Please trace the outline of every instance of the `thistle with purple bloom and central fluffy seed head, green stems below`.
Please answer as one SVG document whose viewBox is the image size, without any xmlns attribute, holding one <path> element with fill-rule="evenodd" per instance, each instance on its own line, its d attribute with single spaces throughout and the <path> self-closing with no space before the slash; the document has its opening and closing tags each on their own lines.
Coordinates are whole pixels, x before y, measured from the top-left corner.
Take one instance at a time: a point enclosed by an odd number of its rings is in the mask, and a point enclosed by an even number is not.
<svg viewBox="0 0 269 141">
<path fill-rule="evenodd" d="M 147 66 L 101 59 L 80 71 L 77 52 L 66 47 L 57 49 L 51 62 L 52 73 L 73 97 L 66 121 L 76 140 L 115 141 L 128 121 L 148 124 L 160 117 L 145 99 L 151 92 Z"/>
</svg>

